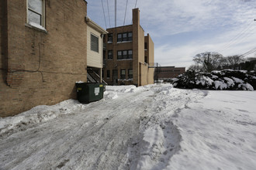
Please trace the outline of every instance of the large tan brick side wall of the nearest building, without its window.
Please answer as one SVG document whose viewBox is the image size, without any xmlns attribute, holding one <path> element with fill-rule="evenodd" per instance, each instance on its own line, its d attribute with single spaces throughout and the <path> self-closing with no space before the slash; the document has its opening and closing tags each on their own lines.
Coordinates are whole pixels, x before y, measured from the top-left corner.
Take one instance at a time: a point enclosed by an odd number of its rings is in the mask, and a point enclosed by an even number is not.
<svg viewBox="0 0 256 170">
<path fill-rule="evenodd" d="M 87 2 L 43 0 L 44 28 L 27 22 L 27 0 L 0 1 L 0 117 L 75 98 L 87 80 Z"/>
</svg>

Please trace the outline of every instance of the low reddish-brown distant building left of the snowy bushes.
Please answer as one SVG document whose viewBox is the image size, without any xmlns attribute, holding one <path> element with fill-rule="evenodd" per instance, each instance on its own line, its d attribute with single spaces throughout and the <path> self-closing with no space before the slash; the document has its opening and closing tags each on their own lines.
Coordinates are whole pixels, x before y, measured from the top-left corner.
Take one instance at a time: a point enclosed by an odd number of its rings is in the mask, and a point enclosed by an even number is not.
<svg viewBox="0 0 256 170">
<path fill-rule="evenodd" d="M 168 80 L 185 73 L 185 67 L 159 66 L 156 68 L 158 80 Z"/>
</svg>

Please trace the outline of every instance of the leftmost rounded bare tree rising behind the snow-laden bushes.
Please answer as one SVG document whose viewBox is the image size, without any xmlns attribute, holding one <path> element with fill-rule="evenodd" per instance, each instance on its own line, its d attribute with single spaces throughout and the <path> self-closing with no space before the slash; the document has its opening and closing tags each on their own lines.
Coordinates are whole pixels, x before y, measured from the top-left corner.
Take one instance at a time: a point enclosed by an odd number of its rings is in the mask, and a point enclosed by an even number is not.
<svg viewBox="0 0 256 170">
<path fill-rule="evenodd" d="M 220 53 L 205 52 L 199 53 L 194 56 L 193 61 L 195 64 L 201 64 L 203 70 L 211 72 L 220 66 L 220 61 L 223 56 Z"/>
</svg>

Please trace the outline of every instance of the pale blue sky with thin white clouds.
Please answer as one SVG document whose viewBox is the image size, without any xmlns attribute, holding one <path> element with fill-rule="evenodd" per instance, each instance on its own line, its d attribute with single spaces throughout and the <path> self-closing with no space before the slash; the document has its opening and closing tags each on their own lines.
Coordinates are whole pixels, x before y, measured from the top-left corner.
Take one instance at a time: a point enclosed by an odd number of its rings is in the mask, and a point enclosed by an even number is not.
<svg viewBox="0 0 256 170">
<path fill-rule="evenodd" d="M 116 1 L 117 26 L 131 24 L 137 2 L 140 25 L 150 33 L 161 66 L 189 67 L 197 53 L 240 55 L 256 47 L 255 0 L 128 0 L 127 8 L 126 0 Z M 87 2 L 93 21 L 104 29 L 115 26 L 114 0 Z"/>
</svg>

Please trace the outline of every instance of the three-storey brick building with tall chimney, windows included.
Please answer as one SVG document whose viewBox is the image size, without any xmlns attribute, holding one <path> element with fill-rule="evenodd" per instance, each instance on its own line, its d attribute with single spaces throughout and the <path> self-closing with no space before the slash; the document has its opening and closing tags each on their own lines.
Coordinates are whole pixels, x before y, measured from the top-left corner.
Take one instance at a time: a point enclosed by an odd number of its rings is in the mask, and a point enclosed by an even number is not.
<svg viewBox="0 0 256 170">
<path fill-rule="evenodd" d="M 144 36 L 140 10 L 133 9 L 133 24 L 107 29 L 102 77 L 111 85 L 154 83 L 154 42 Z"/>
</svg>

